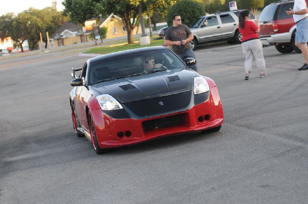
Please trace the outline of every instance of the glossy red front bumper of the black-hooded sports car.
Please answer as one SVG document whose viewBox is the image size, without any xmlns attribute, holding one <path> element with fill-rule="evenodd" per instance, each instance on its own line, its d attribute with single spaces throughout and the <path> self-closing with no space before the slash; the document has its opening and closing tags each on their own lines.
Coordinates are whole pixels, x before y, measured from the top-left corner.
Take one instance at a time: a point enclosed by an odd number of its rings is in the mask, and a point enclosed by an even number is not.
<svg viewBox="0 0 308 204">
<path fill-rule="evenodd" d="M 149 107 L 150 108 L 150 107 Z M 137 144 L 178 133 L 215 128 L 223 123 L 223 109 L 217 87 L 212 87 L 206 101 L 191 108 L 144 118 L 114 119 L 91 110 L 101 148 Z"/>
</svg>

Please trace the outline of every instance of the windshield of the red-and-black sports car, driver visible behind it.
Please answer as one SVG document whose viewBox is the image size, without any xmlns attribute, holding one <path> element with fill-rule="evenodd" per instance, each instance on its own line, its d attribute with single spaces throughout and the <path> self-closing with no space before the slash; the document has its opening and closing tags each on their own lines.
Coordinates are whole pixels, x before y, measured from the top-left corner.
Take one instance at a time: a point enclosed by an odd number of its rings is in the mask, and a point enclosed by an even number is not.
<svg viewBox="0 0 308 204">
<path fill-rule="evenodd" d="M 126 77 L 184 69 L 187 66 L 169 49 L 151 50 L 105 58 L 90 63 L 90 84 Z"/>
</svg>

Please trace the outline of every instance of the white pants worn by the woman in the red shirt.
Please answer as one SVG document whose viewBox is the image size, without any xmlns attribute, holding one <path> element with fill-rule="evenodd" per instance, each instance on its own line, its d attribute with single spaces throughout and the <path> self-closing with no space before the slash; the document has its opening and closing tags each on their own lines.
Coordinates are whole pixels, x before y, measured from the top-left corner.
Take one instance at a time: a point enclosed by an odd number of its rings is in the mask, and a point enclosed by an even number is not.
<svg viewBox="0 0 308 204">
<path fill-rule="evenodd" d="M 245 72 L 252 71 L 253 58 L 255 56 L 256 65 L 259 72 L 263 71 L 266 74 L 265 60 L 263 57 L 263 45 L 260 39 L 253 39 L 242 42 L 243 54 L 245 55 Z"/>
</svg>

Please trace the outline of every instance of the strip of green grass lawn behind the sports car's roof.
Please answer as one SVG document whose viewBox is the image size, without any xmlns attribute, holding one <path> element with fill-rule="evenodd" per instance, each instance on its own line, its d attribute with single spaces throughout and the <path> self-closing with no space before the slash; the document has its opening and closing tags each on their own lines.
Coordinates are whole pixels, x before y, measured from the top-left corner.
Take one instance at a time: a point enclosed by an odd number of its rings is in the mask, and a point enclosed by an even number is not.
<svg viewBox="0 0 308 204">
<path fill-rule="evenodd" d="M 129 50 L 129 49 L 135 49 L 135 48 L 143 48 L 143 47 L 152 47 L 152 46 L 163 46 L 164 45 L 164 39 L 159 39 L 157 37 L 151 37 L 150 38 L 150 44 L 147 44 L 145 46 L 140 46 L 140 42 L 134 39 L 133 44 L 127 44 L 126 42 L 123 43 L 117 43 L 117 44 L 109 44 L 106 46 L 101 46 L 99 48 L 92 48 L 90 50 L 87 50 L 83 53 L 95 53 L 95 54 L 108 54 L 123 50 Z"/>
</svg>

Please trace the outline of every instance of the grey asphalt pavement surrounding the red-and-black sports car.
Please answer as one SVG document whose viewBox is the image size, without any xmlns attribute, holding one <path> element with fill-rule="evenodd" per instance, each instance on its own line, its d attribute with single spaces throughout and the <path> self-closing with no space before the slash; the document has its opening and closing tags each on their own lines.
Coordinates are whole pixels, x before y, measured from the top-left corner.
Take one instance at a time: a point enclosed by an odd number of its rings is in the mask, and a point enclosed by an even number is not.
<svg viewBox="0 0 308 204">
<path fill-rule="evenodd" d="M 0 203 L 307 203 L 308 71 L 301 54 L 264 48 L 267 77 L 244 80 L 239 44 L 195 52 L 224 108 L 219 132 L 97 155 L 73 131 L 71 67 L 51 52 L 0 59 Z"/>
</svg>

